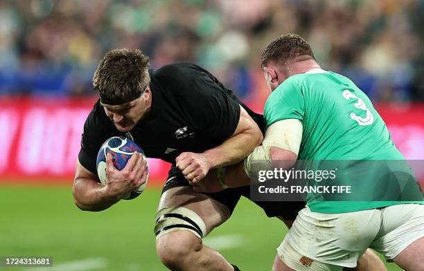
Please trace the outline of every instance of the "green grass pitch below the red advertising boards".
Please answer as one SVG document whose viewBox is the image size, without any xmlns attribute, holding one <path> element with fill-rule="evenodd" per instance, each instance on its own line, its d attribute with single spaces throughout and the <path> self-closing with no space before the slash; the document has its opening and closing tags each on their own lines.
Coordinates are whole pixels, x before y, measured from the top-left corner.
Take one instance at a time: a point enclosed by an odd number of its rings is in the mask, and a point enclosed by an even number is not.
<svg viewBox="0 0 424 271">
<path fill-rule="evenodd" d="M 0 187 L 0 256 L 51 256 L 51 268 L 4 270 L 167 270 L 154 247 L 160 190 L 121 200 L 103 212 L 82 212 L 71 187 Z M 271 270 L 287 228 L 242 198 L 233 216 L 205 243 L 243 271 Z M 390 271 L 400 270 L 393 263 Z M 2 268 L 0 268 L 2 269 Z"/>
</svg>

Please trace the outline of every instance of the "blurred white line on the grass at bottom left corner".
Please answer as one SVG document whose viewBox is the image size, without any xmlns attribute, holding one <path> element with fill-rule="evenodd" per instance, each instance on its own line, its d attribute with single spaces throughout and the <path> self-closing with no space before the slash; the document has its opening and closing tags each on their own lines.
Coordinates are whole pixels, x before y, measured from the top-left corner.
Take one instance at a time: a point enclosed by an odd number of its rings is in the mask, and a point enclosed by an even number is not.
<svg viewBox="0 0 424 271">
<path fill-rule="evenodd" d="M 55 264 L 46 268 L 26 268 L 25 271 L 86 271 L 102 269 L 107 266 L 107 261 L 103 258 L 91 258 L 79 261 L 67 261 L 64 263 Z"/>
</svg>

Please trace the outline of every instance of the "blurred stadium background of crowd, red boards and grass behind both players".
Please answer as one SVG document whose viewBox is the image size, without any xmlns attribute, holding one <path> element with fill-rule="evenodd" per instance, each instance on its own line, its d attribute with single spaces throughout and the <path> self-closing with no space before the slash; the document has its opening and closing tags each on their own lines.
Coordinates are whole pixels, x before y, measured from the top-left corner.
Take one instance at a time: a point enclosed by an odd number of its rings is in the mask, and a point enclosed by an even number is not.
<svg viewBox="0 0 424 271">
<path fill-rule="evenodd" d="M 136 200 L 99 213 L 73 205 L 80 133 L 97 97 L 91 77 L 107 50 L 140 48 L 152 68 L 196 62 L 261 111 L 260 53 L 297 32 L 321 66 L 371 97 L 398 148 L 420 160 L 423 25 L 422 0 L 0 1 L 0 256 L 53 256 L 51 271 L 165 270 L 152 228 L 166 163 L 149 161 Z M 242 270 L 270 270 L 285 232 L 242 200 L 205 242 Z"/>
</svg>

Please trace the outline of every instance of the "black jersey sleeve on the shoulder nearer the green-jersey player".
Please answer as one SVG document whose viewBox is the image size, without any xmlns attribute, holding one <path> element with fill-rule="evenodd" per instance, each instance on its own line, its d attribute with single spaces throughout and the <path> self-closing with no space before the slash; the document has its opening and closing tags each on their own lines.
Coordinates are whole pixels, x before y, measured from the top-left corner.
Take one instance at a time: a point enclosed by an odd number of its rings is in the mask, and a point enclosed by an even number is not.
<svg viewBox="0 0 424 271">
<path fill-rule="evenodd" d="M 155 77 L 167 95 L 175 97 L 186 124 L 210 142 L 222 143 L 236 131 L 240 102 L 209 71 L 192 63 L 176 63 L 161 67 Z"/>
</svg>

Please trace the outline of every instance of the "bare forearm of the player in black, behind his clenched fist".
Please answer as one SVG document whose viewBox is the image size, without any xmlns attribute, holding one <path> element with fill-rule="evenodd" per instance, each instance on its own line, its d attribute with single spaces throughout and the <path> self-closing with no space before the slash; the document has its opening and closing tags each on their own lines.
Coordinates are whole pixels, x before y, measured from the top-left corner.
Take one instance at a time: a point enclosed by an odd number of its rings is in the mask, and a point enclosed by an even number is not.
<svg viewBox="0 0 424 271">
<path fill-rule="evenodd" d="M 254 127 L 224 141 L 220 146 L 204 151 L 211 168 L 233 165 L 244 160 L 262 141 L 262 134 Z"/>
</svg>

